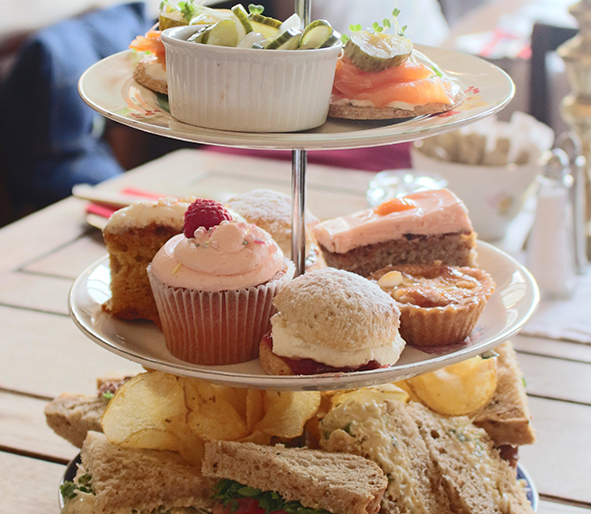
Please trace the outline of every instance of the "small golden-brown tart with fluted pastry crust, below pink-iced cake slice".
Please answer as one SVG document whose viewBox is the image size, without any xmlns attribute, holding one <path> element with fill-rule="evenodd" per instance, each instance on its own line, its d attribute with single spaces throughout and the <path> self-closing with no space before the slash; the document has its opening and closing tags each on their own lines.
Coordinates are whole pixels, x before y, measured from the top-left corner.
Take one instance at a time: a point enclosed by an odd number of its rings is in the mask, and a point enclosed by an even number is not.
<svg viewBox="0 0 591 514">
<path fill-rule="evenodd" d="M 495 284 L 488 273 L 434 264 L 387 266 L 370 276 L 400 308 L 408 344 L 444 346 L 470 335 Z"/>
</svg>

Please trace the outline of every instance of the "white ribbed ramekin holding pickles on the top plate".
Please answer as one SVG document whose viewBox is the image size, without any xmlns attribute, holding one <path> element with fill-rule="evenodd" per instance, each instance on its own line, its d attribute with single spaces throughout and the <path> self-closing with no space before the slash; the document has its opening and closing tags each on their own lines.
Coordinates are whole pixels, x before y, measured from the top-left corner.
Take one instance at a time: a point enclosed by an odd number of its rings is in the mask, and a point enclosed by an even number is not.
<svg viewBox="0 0 591 514">
<path fill-rule="evenodd" d="M 256 50 L 185 41 L 195 30 L 162 33 L 174 118 L 239 132 L 294 132 L 326 121 L 340 45 Z"/>
</svg>

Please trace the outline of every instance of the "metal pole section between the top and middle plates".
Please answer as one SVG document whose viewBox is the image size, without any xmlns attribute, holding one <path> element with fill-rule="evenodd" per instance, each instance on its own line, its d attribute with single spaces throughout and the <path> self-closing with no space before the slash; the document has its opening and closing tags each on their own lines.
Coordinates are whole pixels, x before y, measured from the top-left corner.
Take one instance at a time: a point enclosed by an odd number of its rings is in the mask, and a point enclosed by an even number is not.
<svg viewBox="0 0 591 514">
<path fill-rule="evenodd" d="M 291 258 L 296 276 L 306 270 L 306 150 L 291 153 Z"/>
</svg>

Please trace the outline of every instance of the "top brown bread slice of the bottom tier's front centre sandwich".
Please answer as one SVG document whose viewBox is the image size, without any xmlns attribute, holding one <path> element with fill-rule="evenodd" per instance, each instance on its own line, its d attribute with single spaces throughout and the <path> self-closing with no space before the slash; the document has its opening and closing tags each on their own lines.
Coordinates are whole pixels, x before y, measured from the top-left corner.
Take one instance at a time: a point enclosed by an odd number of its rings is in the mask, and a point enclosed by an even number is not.
<svg viewBox="0 0 591 514">
<path fill-rule="evenodd" d="M 338 514 L 377 514 L 388 481 L 373 462 L 307 448 L 212 441 L 203 474 L 275 491 L 286 501 Z"/>
</svg>

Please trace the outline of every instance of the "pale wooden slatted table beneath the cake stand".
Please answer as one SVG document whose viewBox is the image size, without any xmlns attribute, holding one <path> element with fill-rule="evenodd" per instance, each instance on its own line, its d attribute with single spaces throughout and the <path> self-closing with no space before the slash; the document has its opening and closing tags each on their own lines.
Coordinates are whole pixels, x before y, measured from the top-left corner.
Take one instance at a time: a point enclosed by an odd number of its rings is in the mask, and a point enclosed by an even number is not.
<svg viewBox="0 0 591 514">
<path fill-rule="evenodd" d="M 371 174 L 309 166 L 308 200 L 319 217 L 365 207 Z M 257 187 L 289 192 L 290 164 L 182 150 L 98 186 L 226 199 Z M 57 513 L 58 484 L 78 450 L 45 425 L 62 392 L 92 394 L 95 378 L 136 372 L 74 326 L 72 281 L 105 255 L 68 198 L 0 230 L 0 513 Z M 540 492 L 539 512 L 591 510 L 591 346 L 515 337 L 538 442 L 520 450 Z"/>
</svg>

